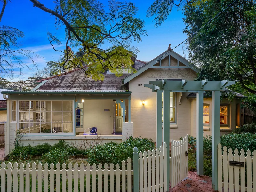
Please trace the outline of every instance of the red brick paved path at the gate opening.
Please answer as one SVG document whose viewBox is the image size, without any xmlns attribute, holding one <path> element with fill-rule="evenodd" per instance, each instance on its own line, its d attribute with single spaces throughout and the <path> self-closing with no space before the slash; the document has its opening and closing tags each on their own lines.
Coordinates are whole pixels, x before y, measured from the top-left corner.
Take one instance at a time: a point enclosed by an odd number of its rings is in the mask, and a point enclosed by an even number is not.
<svg viewBox="0 0 256 192">
<path fill-rule="evenodd" d="M 209 176 L 198 176 L 196 172 L 188 171 L 188 177 L 178 183 L 170 192 L 211 192 L 212 178 Z"/>
</svg>

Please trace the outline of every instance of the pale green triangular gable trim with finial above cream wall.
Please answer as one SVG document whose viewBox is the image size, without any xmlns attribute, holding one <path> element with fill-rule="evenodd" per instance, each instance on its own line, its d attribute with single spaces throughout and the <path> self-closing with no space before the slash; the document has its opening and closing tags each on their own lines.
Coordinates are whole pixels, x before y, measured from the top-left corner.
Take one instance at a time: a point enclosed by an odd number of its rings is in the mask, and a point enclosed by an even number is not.
<svg viewBox="0 0 256 192">
<path fill-rule="evenodd" d="M 136 73 L 132 73 L 128 76 L 126 76 L 124 78 L 124 84 L 126 84 L 127 82 L 131 81 L 133 78 L 135 78 L 136 76 L 140 75 L 141 73 L 143 73 L 144 71 L 146 71 L 148 68 L 152 68 L 156 63 L 158 63 L 159 58 L 164 59 L 167 56 L 172 56 L 173 58 L 181 61 L 185 66 L 177 66 L 177 68 L 191 68 L 192 70 L 194 70 L 196 73 L 199 72 L 199 69 L 193 65 L 190 64 L 189 61 L 187 59 L 185 59 L 184 57 L 182 57 L 180 54 L 168 49 L 165 52 L 163 52 L 161 55 L 157 56 L 156 58 L 154 58 L 153 60 L 147 62 L 145 65 L 141 66 L 139 69 L 137 69 Z M 157 67 L 156 67 L 157 68 Z M 161 67 L 159 67 L 161 68 Z M 163 67 L 164 68 L 164 67 Z M 168 67 L 166 67 L 168 68 Z M 172 67 L 169 67 L 172 68 Z M 173 67 L 174 68 L 174 67 Z"/>
</svg>

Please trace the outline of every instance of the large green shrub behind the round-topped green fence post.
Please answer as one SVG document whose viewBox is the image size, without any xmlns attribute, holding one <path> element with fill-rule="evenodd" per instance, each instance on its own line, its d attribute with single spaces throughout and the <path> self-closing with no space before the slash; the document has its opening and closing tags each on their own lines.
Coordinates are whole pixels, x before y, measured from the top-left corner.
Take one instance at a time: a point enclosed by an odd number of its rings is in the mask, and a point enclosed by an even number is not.
<svg viewBox="0 0 256 192">
<path fill-rule="evenodd" d="M 120 143 L 116 148 L 115 155 L 117 162 L 121 165 L 122 161 L 126 161 L 128 157 L 133 157 L 133 148 L 137 147 L 138 151 L 148 151 L 155 149 L 155 143 L 153 139 L 140 138 L 140 137 L 129 137 L 124 142 Z"/>
</svg>

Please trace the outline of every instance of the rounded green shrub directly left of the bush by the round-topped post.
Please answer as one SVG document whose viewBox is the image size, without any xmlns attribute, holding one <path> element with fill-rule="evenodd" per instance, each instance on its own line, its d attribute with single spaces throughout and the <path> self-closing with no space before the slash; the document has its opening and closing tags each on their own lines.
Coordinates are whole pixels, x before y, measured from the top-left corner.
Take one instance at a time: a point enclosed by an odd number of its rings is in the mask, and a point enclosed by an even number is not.
<svg viewBox="0 0 256 192">
<path fill-rule="evenodd" d="M 103 166 L 105 163 L 116 163 L 115 150 L 117 148 L 117 143 L 110 142 L 105 144 L 95 145 L 88 152 L 89 158 L 88 162 L 92 165 L 95 163 L 98 165 L 101 163 Z"/>
</svg>

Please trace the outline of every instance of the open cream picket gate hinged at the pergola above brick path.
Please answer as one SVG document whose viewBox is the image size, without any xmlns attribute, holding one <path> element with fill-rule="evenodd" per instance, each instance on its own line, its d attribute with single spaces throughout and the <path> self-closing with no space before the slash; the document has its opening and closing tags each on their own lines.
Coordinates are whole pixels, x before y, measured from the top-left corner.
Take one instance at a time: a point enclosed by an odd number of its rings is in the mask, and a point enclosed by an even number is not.
<svg viewBox="0 0 256 192">
<path fill-rule="evenodd" d="M 171 188 L 188 176 L 188 135 L 181 141 L 171 140 Z"/>
</svg>

